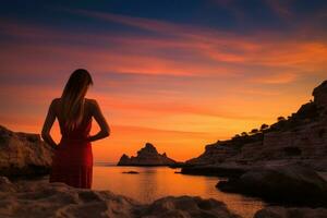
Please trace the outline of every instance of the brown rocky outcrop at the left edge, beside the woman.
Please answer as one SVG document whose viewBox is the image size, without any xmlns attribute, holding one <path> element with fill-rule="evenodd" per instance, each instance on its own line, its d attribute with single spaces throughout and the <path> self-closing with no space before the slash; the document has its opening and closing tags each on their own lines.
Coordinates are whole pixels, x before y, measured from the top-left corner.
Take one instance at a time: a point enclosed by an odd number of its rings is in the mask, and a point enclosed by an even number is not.
<svg viewBox="0 0 327 218">
<path fill-rule="evenodd" d="M 13 132 L 0 125 L 0 174 L 31 175 L 50 170 L 53 148 L 39 134 Z"/>
</svg>

